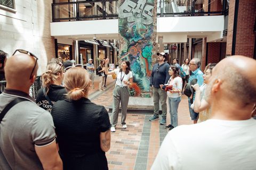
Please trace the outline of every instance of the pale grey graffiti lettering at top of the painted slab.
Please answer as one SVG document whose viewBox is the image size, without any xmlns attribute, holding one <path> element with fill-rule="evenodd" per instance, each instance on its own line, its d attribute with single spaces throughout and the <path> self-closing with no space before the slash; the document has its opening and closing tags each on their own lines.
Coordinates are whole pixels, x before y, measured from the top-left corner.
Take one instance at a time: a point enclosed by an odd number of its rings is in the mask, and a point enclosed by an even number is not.
<svg viewBox="0 0 256 170">
<path fill-rule="evenodd" d="M 137 3 L 133 1 L 124 1 L 119 7 L 119 18 L 127 18 L 128 22 L 140 20 L 141 23 L 149 25 L 153 23 L 153 5 L 146 4 L 146 0 L 139 0 Z"/>
</svg>

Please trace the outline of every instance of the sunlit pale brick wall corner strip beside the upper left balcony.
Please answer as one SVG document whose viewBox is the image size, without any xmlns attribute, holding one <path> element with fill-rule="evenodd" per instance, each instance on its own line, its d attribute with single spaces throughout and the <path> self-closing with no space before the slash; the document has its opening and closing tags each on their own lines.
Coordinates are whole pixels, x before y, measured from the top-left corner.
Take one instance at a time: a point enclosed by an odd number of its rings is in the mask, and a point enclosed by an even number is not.
<svg viewBox="0 0 256 170">
<path fill-rule="evenodd" d="M 39 47 L 42 73 L 46 70 L 47 62 L 55 58 L 54 37 L 51 36 L 50 22 L 52 21 L 52 0 L 37 1 Z"/>
</svg>

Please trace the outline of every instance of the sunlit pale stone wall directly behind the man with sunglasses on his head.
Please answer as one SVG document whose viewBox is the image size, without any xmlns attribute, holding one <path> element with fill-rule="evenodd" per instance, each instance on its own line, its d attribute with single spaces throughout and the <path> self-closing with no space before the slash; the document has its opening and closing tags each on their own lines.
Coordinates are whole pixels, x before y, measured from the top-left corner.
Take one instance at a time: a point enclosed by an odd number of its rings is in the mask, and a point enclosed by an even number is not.
<svg viewBox="0 0 256 170">
<path fill-rule="evenodd" d="M 16 49 L 35 54 L 39 58 L 38 74 L 41 74 L 37 10 L 35 0 L 16 0 L 13 12 L 0 8 L 0 48 L 10 56 Z"/>
</svg>

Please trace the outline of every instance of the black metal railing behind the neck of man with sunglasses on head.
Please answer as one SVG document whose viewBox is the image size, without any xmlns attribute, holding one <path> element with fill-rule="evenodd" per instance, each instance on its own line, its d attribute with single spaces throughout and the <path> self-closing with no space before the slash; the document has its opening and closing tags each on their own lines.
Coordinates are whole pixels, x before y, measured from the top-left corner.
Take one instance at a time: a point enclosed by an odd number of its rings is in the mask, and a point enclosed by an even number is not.
<svg viewBox="0 0 256 170">
<path fill-rule="evenodd" d="M 6 87 L 6 81 L 0 81 L 1 91 L 4 91 L 5 87 Z M 35 82 L 30 86 L 29 96 L 36 99 L 37 92 L 41 88 L 42 88 L 42 79 L 41 79 L 41 75 L 38 75 Z"/>
</svg>

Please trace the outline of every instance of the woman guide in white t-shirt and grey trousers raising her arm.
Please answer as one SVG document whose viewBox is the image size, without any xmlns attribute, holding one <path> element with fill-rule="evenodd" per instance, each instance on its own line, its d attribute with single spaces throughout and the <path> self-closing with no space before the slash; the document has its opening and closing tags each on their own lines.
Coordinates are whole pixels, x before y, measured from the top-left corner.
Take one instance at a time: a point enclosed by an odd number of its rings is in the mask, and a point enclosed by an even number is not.
<svg viewBox="0 0 256 170">
<path fill-rule="evenodd" d="M 109 58 L 106 59 L 106 64 L 108 64 Z M 129 61 L 123 61 L 121 64 L 121 69 L 116 69 L 113 71 L 108 71 L 108 68 L 105 67 L 105 73 L 110 74 L 116 74 L 116 87 L 113 92 L 113 112 L 111 117 L 111 132 L 115 132 L 117 121 L 118 121 L 118 112 L 119 112 L 119 104 L 121 101 L 121 109 L 122 109 L 122 120 L 121 124 L 124 129 L 127 128 L 127 125 L 125 123 L 126 120 L 126 114 L 127 114 L 127 106 L 129 102 L 129 87 L 132 87 L 132 72 L 130 71 L 130 62 Z"/>
</svg>

